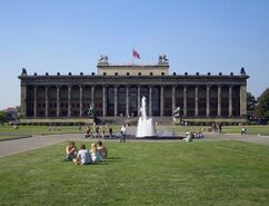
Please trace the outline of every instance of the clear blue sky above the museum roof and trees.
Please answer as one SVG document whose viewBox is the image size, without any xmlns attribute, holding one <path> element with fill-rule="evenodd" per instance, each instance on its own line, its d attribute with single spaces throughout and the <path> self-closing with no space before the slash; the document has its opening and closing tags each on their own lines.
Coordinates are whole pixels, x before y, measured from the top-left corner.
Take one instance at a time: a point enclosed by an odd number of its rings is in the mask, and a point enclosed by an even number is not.
<svg viewBox="0 0 269 206">
<path fill-rule="evenodd" d="M 20 105 L 18 76 L 96 71 L 97 59 L 155 63 L 170 72 L 250 76 L 248 91 L 269 87 L 268 0 L 0 0 L 0 109 Z"/>
</svg>

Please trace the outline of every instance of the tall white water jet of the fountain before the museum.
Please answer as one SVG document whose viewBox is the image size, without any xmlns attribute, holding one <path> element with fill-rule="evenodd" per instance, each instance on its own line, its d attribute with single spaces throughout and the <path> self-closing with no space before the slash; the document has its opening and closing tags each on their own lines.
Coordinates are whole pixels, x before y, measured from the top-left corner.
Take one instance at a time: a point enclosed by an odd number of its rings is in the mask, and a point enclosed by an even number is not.
<svg viewBox="0 0 269 206">
<path fill-rule="evenodd" d="M 141 108 L 140 108 L 141 116 L 138 120 L 138 127 L 137 127 L 137 138 L 142 137 L 152 137 L 155 136 L 155 129 L 152 125 L 152 118 L 147 118 L 146 112 L 146 97 L 142 97 L 141 99 Z"/>
</svg>

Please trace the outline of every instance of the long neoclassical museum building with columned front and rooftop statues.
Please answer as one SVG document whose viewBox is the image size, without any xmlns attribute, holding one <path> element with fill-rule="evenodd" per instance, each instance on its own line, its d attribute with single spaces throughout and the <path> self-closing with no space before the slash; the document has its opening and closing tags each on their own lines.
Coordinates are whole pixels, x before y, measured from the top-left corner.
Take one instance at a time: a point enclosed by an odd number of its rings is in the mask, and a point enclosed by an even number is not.
<svg viewBox="0 0 269 206">
<path fill-rule="evenodd" d="M 182 118 L 246 118 L 247 79 L 238 73 L 169 73 L 165 56 L 153 65 L 112 65 L 101 56 L 97 73 L 29 75 L 21 80 L 21 116 L 26 119 L 137 117 L 141 98 L 149 116 Z"/>
</svg>

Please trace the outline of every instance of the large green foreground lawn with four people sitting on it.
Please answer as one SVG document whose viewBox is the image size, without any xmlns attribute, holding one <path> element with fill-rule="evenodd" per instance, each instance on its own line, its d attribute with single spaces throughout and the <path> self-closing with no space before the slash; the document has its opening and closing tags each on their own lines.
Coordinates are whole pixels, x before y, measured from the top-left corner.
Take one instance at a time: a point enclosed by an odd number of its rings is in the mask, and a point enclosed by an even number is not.
<svg viewBox="0 0 269 206">
<path fill-rule="evenodd" d="M 269 203 L 267 146 L 239 141 L 106 145 L 109 158 L 100 165 L 63 161 L 66 144 L 0 158 L 0 205 Z"/>
</svg>

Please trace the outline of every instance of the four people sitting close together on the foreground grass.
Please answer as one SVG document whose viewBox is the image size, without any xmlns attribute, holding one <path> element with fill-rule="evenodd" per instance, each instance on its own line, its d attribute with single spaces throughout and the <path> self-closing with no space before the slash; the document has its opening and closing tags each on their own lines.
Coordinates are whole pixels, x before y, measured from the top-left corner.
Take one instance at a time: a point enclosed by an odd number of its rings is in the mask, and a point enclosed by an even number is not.
<svg viewBox="0 0 269 206">
<path fill-rule="evenodd" d="M 108 149 L 103 146 L 102 141 L 91 144 L 90 150 L 81 144 L 78 150 L 74 141 L 70 141 L 66 148 L 67 156 L 64 160 L 73 161 L 76 165 L 89 165 L 102 161 L 108 157 Z"/>
</svg>

